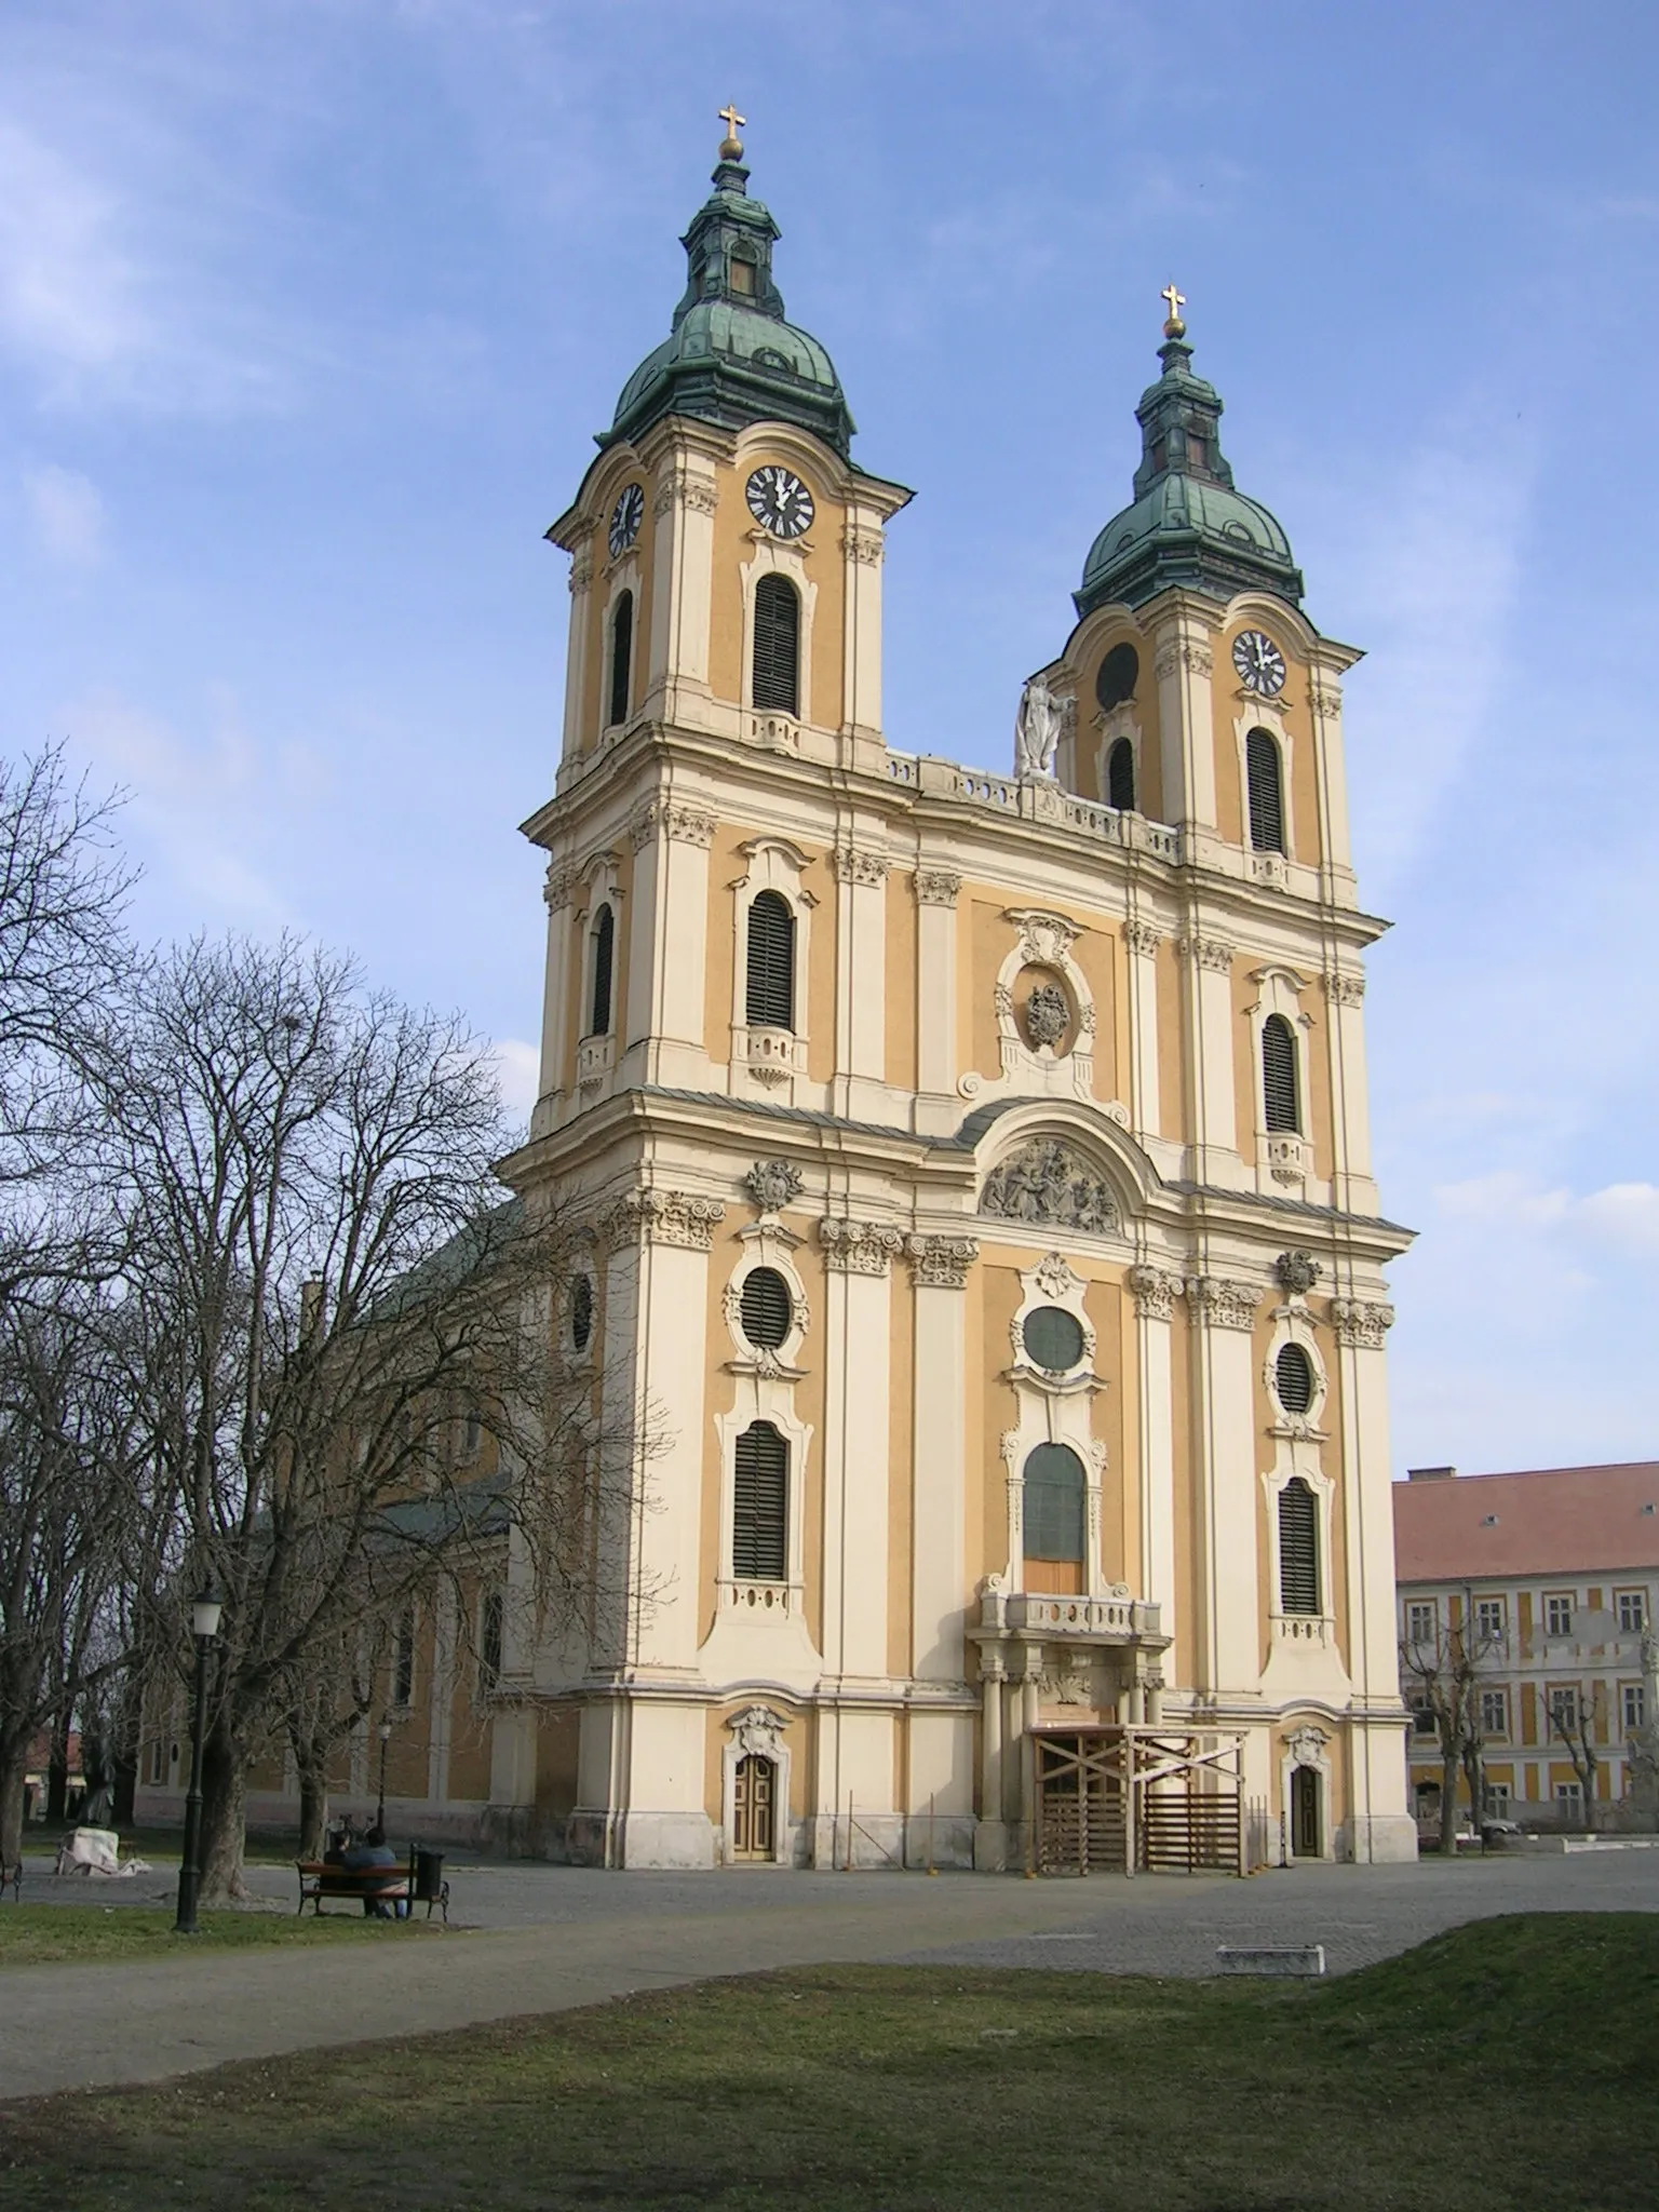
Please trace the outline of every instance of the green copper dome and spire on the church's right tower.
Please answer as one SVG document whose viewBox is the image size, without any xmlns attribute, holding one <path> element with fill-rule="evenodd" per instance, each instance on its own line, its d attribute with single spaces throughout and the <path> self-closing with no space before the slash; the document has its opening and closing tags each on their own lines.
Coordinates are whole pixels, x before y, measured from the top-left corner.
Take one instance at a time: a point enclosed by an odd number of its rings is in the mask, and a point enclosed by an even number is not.
<svg viewBox="0 0 1659 2212">
<path fill-rule="evenodd" d="M 1234 491 L 1221 456 L 1221 394 L 1194 376 L 1183 325 L 1166 325 L 1164 376 L 1141 394 L 1141 465 L 1135 504 L 1113 515 L 1088 549 L 1079 615 L 1144 606 L 1175 584 L 1230 599 L 1272 591 L 1301 604 L 1303 577 L 1290 538 L 1259 500 Z"/>
</svg>

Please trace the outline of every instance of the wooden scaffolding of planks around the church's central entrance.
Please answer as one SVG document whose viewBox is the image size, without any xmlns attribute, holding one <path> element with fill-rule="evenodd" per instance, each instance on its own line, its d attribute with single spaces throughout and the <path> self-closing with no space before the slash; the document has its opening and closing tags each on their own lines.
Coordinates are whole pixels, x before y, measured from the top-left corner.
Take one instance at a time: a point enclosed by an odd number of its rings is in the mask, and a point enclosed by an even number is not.
<svg viewBox="0 0 1659 2212">
<path fill-rule="evenodd" d="M 1042 1723 L 1029 1743 L 1037 1871 L 1250 1871 L 1241 1734 Z"/>
</svg>

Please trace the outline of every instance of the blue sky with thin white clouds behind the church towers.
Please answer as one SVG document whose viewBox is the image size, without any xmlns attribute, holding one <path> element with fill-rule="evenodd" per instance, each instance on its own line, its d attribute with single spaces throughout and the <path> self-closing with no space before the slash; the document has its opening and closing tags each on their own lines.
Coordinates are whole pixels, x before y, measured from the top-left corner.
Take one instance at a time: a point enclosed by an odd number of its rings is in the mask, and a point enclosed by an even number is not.
<svg viewBox="0 0 1659 2212">
<path fill-rule="evenodd" d="M 9 0 L 0 743 L 150 936 L 283 925 L 524 1082 L 566 504 L 734 97 L 889 533 L 887 730 L 1004 763 L 1159 299 L 1347 684 L 1394 1440 L 1659 1453 L 1659 11 Z"/>
</svg>

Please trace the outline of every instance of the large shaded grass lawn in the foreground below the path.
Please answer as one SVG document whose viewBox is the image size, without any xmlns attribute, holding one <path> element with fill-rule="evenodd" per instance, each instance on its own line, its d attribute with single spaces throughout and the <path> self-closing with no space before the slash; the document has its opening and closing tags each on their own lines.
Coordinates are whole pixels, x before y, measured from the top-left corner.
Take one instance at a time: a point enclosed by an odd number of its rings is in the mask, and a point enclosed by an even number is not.
<svg viewBox="0 0 1659 2212">
<path fill-rule="evenodd" d="M 66 2212 L 1637 2212 L 1659 1916 L 1480 1920 L 1323 1984 L 706 1982 L 0 2108 L 0 2170 Z"/>
</svg>

